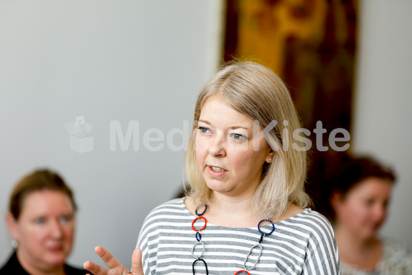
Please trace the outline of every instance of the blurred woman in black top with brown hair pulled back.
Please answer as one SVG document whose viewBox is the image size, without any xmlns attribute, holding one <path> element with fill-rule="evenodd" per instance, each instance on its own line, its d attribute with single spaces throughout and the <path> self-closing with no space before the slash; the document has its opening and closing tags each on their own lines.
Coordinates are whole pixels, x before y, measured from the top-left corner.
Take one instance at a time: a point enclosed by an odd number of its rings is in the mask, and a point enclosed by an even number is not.
<svg viewBox="0 0 412 275">
<path fill-rule="evenodd" d="M 36 170 L 19 181 L 5 220 L 14 252 L 0 274 L 86 274 L 65 264 L 73 245 L 76 203 L 65 181 Z"/>
</svg>

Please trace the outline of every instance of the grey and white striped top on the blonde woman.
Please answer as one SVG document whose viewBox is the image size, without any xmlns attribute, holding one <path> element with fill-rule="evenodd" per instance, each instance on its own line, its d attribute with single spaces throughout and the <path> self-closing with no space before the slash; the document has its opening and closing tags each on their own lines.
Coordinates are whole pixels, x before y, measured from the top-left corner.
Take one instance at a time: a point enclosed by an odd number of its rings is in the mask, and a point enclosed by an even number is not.
<svg viewBox="0 0 412 275">
<path fill-rule="evenodd" d="M 193 274 L 192 248 L 196 236 L 192 221 L 196 217 L 187 210 L 183 199 L 161 204 L 148 214 L 137 240 L 141 248 L 145 275 Z M 203 226 L 196 221 L 196 228 Z M 261 227 L 270 232 L 272 225 Z M 226 228 L 207 223 L 201 231 L 210 275 L 234 275 L 244 270 L 244 261 L 253 245 L 259 243 L 260 232 L 255 228 Z M 339 255 L 332 226 L 325 217 L 307 208 L 303 212 L 275 223 L 271 235 L 264 236 L 262 256 L 249 273 L 266 274 L 339 274 Z M 202 245 L 196 245 L 195 256 Z M 258 259 L 260 249 L 254 248 L 247 268 Z M 197 261 L 196 274 L 206 274 L 203 262 Z M 244 275 L 240 273 L 239 275 Z"/>
</svg>

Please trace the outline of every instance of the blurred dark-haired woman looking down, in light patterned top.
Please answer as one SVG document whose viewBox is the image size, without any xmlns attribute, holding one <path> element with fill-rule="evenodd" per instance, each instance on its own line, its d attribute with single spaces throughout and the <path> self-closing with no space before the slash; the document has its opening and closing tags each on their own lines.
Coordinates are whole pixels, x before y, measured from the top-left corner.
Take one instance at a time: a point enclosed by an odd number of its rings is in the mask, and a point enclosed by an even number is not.
<svg viewBox="0 0 412 275">
<path fill-rule="evenodd" d="M 412 274 L 412 254 L 378 237 L 387 217 L 393 172 L 369 157 L 349 158 L 330 195 L 341 275 Z"/>
</svg>

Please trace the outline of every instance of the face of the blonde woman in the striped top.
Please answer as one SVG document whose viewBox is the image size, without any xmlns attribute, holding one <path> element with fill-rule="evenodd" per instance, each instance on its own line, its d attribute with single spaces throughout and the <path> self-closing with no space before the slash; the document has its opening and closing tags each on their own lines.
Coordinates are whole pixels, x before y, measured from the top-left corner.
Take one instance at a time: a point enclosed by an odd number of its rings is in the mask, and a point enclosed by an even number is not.
<svg viewBox="0 0 412 275">
<path fill-rule="evenodd" d="M 253 129 L 251 118 L 211 97 L 196 131 L 196 161 L 207 186 L 222 195 L 251 197 L 264 162 L 273 157 L 260 127 Z"/>
</svg>

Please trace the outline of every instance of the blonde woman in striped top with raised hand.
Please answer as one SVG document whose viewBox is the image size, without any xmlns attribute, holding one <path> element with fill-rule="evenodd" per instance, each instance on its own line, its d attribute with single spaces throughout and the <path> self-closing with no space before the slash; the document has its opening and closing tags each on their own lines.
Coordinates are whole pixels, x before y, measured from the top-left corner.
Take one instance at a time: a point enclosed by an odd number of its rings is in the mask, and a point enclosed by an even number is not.
<svg viewBox="0 0 412 275">
<path fill-rule="evenodd" d="M 223 67 L 196 102 L 186 197 L 150 212 L 132 274 L 339 274 L 330 223 L 307 208 L 299 127 L 288 89 L 270 69 Z M 96 252 L 110 274 L 130 274 L 103 248 Z M 84 267 L 107 274 L 89 261 Z"/>
</svg>

